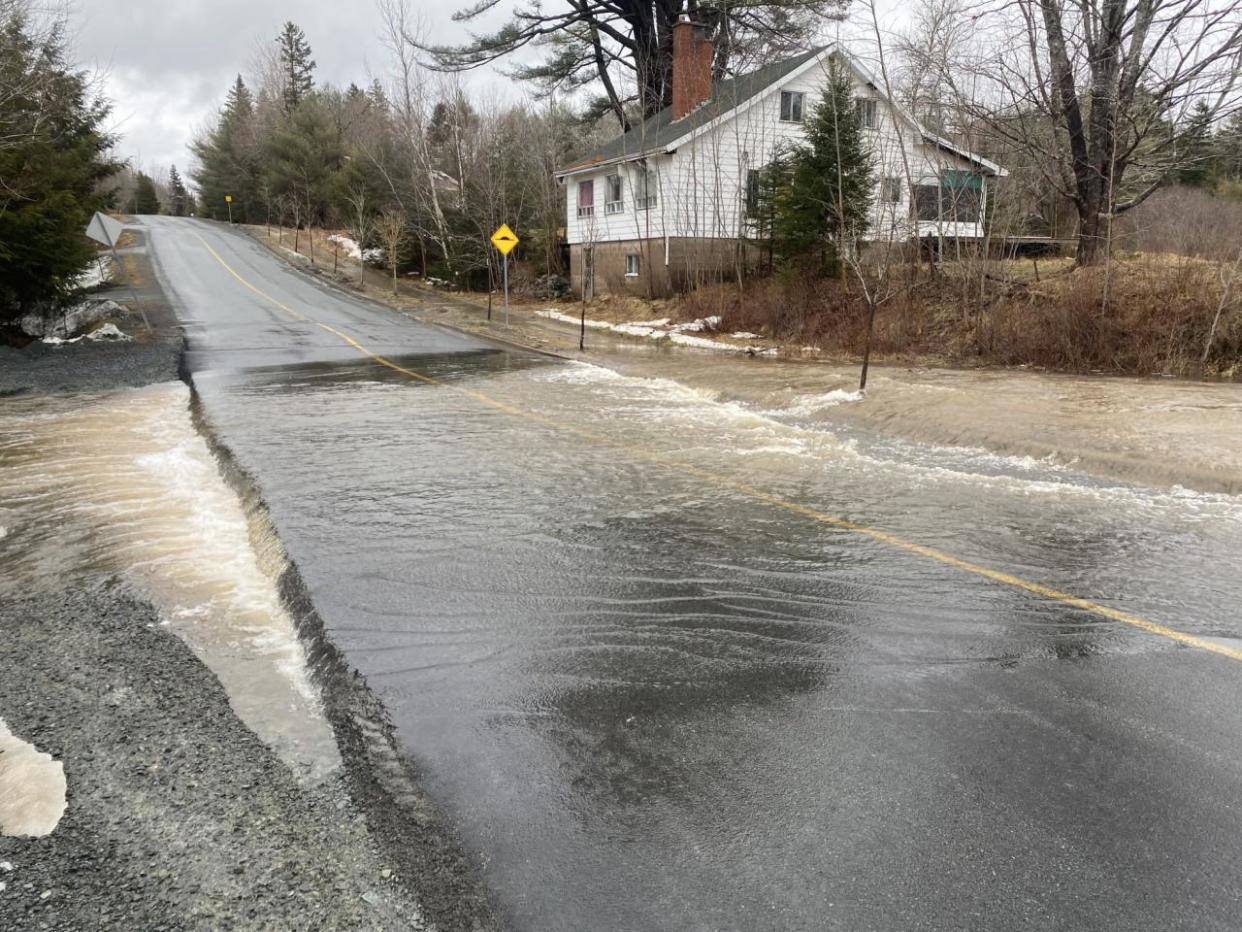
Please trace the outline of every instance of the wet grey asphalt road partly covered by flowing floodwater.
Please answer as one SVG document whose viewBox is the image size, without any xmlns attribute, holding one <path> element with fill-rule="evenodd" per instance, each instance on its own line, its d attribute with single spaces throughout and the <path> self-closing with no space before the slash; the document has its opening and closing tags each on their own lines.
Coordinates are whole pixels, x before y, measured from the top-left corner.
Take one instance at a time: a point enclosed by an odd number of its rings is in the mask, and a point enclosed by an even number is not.
<svg viewBox="0 0 1242 932">
<path fill-rule="evenodd" d="M 1236 500 L 832 436 L 152 226 L 209 421 L 509 927 L 1238 928 L 1242 665 L 737 483 L 1233 647 Z"/>
</svg>

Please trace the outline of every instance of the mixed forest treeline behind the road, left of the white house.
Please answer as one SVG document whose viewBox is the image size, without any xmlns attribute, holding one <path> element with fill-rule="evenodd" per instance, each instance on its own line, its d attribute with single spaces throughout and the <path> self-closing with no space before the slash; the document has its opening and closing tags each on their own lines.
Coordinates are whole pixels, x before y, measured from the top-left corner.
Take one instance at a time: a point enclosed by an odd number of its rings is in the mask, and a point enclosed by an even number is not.
<svg viewBox="0 0 1242 932">
<path fill-rule="evenodd" d="M 508 222 L 528 260 L 560 270 L 564 201 L 553 173 L 584 132 L 570 109 L 471 101 L 409 62 L 388 87 L 319 85 L 293 22 L 273 51 L 253 86 L 238 75 L 194 143 L 200 215 L 227 219 L 229 195 L 235 221 L 332 226 L 370 245 L 397 211 L 401 265 L 460 283 L 487 281 L 488 237 Z"/>
</svg>

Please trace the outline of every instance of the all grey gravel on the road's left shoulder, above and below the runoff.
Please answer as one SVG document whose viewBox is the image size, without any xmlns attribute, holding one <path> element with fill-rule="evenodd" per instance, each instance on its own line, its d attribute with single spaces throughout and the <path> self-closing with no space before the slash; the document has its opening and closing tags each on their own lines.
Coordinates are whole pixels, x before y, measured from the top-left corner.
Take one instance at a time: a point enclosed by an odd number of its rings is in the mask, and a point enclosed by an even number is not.
<svg viewBox="0 0 1242 932">
<path fill-rule="evenodd" d="M 138 242 L 127 254 L 153 331 L 129 317 L 133 342 L 0 345 L 0 403 L 184 374 L 180 323 Z M 0 930 L 497 928 L 473 865 L 293 568 L 282 595 L 319 660 L 345 764 L 313 788 L 123 583 L 0 598 L 0 717 L 62 761 L 68 782 L 51 835 L 0 836 Z"/>
</svg>

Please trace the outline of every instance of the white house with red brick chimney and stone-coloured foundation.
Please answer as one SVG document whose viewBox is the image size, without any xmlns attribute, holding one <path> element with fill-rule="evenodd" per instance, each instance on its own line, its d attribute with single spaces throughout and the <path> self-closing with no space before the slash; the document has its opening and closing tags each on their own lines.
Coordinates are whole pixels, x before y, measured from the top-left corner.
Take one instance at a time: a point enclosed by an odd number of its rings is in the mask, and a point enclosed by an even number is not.
<svg viewBox="0 0 1242 932">
<path fill-rule="evenodd" d="M 753 261 L 759 170 L 804 137 L 831 58 L 853 77 L 877 191 L 868 236 L 984 235 L 987 179 L 1005 170 L 928 133 L 840 46 L 812 48 L 712 86 L 710 43 L 673 27 L 673 103 L 558 175 L 575 288 L 664 295 Z M 912 203 L 913 194 L 913 203 Z"/>
</svg>

